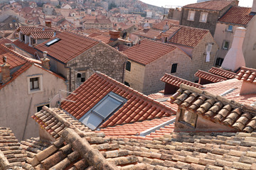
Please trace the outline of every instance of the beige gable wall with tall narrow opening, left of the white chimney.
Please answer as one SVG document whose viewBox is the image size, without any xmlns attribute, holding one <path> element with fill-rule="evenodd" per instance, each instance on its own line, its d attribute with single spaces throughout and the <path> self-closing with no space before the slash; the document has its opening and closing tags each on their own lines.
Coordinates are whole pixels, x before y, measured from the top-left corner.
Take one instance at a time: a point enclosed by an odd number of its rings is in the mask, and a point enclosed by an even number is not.
<svg viewBox="0 0 256 170">
<path fill-rule="evenodd" d="M 208 42 L 213 43 L 212 50 L 210 52 L 210 62 L 206 62 L 206 45 Z M 192 69 L 191 74 L 195 74 L 198 69 L 203 71 L 208 71 L 215 64 L 215 55 L 218 50 L 218 45 L 213 40 L 213 36 L 208 33 L 203 37 L 203 39 L 193 48 L 193 57 L 192 57 Z M 195 81 L 198 78 L 191 79 Z"/>
</svg>

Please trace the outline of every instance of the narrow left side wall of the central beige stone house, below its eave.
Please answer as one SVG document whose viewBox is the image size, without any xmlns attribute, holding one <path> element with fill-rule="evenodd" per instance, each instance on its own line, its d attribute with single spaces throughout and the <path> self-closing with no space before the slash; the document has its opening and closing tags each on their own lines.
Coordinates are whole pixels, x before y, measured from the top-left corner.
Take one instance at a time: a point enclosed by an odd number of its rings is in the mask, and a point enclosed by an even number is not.
<svg viewBox="0 0 256 170">
<path fill-rule="evenodd" d="M 131 71 L 125 70 L 124 81 L 127 81 L 132 89 L 143 92 L 145 66 L 132 60 L 128 61 L 131 62 Z"/>
</svg>

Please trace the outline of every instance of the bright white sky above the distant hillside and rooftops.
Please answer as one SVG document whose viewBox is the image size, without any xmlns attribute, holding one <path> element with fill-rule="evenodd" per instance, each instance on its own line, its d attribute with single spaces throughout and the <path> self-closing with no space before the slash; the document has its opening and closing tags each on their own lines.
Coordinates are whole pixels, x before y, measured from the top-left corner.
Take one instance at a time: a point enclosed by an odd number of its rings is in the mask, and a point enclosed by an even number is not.
<svg viewBox="0 0 256 170">
<path fill-rule="evenodd" d="M 141 0 L 146 4 L 151 4 L 154 6 L 164 6 L 170 8 L 170 6 L 184 6 L 186 4 L 196 3 L 196 0 Z M 240 0 L 239 6 L 252 7 L 253 0 Z"/>
</svg>

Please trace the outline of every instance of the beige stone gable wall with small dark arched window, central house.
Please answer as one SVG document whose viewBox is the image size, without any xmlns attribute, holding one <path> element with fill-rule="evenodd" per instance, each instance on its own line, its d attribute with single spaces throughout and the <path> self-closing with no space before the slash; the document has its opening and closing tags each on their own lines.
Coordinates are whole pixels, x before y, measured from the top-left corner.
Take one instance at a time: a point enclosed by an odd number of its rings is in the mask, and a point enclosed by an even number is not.
<svg viewBox="0 0 256 170">
<path fill-rule="evenodd" d="M 194 79 L 191 74 L 191 58 L 185 52 L 176 48 L 176 50 L 146 64 L 142 92 L 144 94 L 152 94 L 164 89 L 164 82 L 160 81 L 160 79 L 165 73 L 171 74 L 172 64 L 175 63 L 178 64 L 177 71 L 172 75 L 188 80 Z"/>
</svg>

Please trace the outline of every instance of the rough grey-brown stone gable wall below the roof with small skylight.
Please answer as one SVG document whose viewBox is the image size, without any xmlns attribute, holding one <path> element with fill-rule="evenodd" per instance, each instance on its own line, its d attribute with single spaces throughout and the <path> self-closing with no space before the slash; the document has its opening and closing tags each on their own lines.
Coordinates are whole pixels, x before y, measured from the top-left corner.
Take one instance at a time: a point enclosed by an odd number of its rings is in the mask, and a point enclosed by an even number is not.
<svg viewBox="0 0 256 170">
<path fill-rule="evenodd" d="M 89 78 L 94 73 L 93 70 L 99 71 L 123 82 L 126 62 L 127 57 L 109 45 L 103 43 L 95 45 L 68 62 L 67 67 L 71 68 L 71 91 L 78 87 L 76 86 L 78 72 L 87 72 L 87 78 Z M 69 69 L 67 69 L 67 79 L 70 80 Z"/>
</svg>

